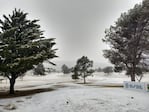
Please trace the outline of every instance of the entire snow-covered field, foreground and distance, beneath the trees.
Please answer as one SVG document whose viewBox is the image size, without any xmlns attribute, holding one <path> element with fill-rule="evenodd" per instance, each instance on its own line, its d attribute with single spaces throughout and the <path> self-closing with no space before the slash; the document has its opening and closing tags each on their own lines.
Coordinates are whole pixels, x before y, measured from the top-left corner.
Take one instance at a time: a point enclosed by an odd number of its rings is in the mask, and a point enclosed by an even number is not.
<svg viewBox="0 0 149 112">
<path fill-rule="evenodd" d="M 130 78 L 124 74 L 106 76 L 95 73 L 87 78 L 89 84 L 78 84 L 70 75 L 62 73 L 43 77 L 26 75 L 18 79 L 16 90 L 55 88 L 53 91 L 30 96 L 0 99 L 0 112 L 149 112 L 149 93 L 126 90 L 121 87 L 101 85 L 122 85 Z M 149 82 L 145 75 L 143 82 Z M 0 83 L 0 90 L 8 89 L 8 81 Z M 60 86 L 60 88 L 56 88 Z"/>
</svg>

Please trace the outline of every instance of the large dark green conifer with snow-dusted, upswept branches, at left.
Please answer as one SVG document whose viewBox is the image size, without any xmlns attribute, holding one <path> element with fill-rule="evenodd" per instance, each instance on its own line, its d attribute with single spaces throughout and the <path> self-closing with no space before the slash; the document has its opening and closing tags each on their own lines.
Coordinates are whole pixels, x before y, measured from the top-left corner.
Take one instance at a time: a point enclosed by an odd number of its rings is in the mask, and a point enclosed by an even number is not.
<svg viewBox="0 0 149 112">
<path fill-rule="evenodd" d="M 45 39 L 39 20 L 27 19 L 27 13 L 14 10 L 0 20 L 0 71 L 10 81 L 14 94 L 16 79 L 44 60 L 57 57 L 54 39 Z"/>
</svg>

